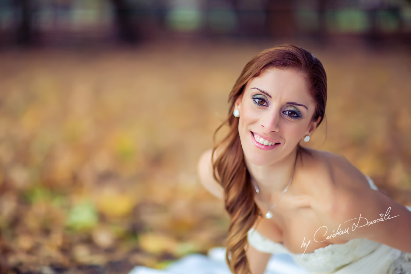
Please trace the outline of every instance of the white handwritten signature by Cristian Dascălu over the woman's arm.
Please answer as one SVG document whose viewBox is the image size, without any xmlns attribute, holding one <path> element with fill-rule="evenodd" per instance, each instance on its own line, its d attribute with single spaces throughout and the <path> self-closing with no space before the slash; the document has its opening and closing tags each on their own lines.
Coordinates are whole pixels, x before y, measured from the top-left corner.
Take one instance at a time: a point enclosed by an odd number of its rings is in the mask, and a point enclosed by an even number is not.
<svg viewBox="0 0 411 274">
<path fill-rule="evenodd" d="M 348 222 L 348 221 L 352 221 L 352 220 L 358 219 L 357 223 L 354 222 L 354 223 L 353 223 L 353 226 L 351 227 L 351 231 L 354 231 L 354 230 L 356 230 L 356 228 L 360 228 L 360 227 L 363 227 L 363 226 L 371 226 L 371 225 L 374 224 L 374 223 L 379 223 L 379 222 L 382 222 L 382 221 L 385 221 L 385 220 L 388 220 L 388 219 L 393 219 L 393 218 L 399 216 L 399 215 L 397 215 L 397 216 L 391 217 L 390 214 L 389 214 L 390 211 L 391 211 L 391 207 L 388 207 L 388 209 L 387 209 L 387 211 L 386 211 L 385 214 L 383 214 L 383 213 L 379 214 L 379 216 L 380 216 L 381 218 L 375 219 L 375 220 L 373 220 L 373 221 L 368 221 L 367 218 L 361 217 L 361 213 L 360 213 L 360 216 L 359 216 L 358 218 L 353 218 L 353 219 L 347 220 L 347 221 L 345 221 L 344 223 L 346 223 L 346 222 Z M 361 224 L 361 225 L 360 225 L 360 221 L 362 221 L 362 224 Z M 334 237 L 337 237 L 337 236 L 342 235 L 342 234 L 344 234 L 344 233 L 349 234 L 349 228 L 346 228 L 345 230 L 339 230 L 340 226 L 341 226 L 341 224 L 338 226 L 336 232 L 335 232 L 335 230 L 332 230 L 333 233 L 330 234 L 330 235 L 328 235 L 328 236 L 326 237 L 326 240 L 331 239 L 331 238 L 334 238 Z M 323 236 L 325 236 L 325 235 L 327 234 L 327 232 L 328 232 L 328 227 L 327 227 L 327 226 L 321 226 L 319 229 L 317 229 L 317 231 L 314 233 L 314 237 L 313 237 L 314 241 L 317 242 L 317 243 L 321 243 L 321 242 L 324 242 L 324 241 L 325 241 L 325 240 L 323 240 L 323 241 L 317 241 L 317 240 L 315 239 L 315 235 L 317 234 L 317 232 L 318 232 L 321 228 L 325 228 L 325 232 L 324 232 Z M 335 232 L 335 233 L 334 233 L 334 232 Z M 304 252 L 302 253 L 302 256 L 304 256 L 304 253 L 305 253 L 305 251 L 307 250 L 307 247 L 308 247 L 308 245 L 310 244 L 310 242 L 311 242 L 311 240 L 309 240 L 309 241 L 306 243 L 306 242 L 305 242 L 305 237 L 304 237 L 304 239 L 302 240 L 302 244 L 301 244 L 300 248 L 305 247 Z M 302 259 L 302 256 L 301 256 L 301 258 L 300 258 L 300 261 L 301 261 L 301 259 Z"/>
</svg>

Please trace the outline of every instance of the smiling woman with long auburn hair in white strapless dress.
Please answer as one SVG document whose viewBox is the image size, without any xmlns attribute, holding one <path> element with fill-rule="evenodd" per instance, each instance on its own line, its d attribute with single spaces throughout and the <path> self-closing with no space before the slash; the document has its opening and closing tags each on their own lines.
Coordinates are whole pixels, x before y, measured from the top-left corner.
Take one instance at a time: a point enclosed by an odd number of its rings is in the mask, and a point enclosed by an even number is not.
<svg viewBox="0 0 411 274">
<path fill-rule="evenodd" d="M 289 253 L 313 273 L 411 273 L 411 207 L 346 158 L 300 145 L 326 100 L 321 62 L 297 46 L 261 52 L 237 79 L 216 130 L 229 133 L 198 163 L 231 218 L 231 272 L 262 274 L 271 253 Z"/>
</svg>

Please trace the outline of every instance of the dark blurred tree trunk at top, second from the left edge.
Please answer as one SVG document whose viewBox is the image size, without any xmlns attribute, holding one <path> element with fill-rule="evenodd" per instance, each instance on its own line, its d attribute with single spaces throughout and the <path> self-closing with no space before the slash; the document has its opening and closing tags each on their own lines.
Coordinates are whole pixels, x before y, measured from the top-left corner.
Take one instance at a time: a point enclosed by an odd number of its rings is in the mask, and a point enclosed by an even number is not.
<svg viewBox="0 0 411 274">
<path fill-rule="evenodd" d="M 136 26 L 132 23 L 132 9 L 126 0 L 111 0 L 121 41 L 135 44 L 138 40 Z"/>
</svg>

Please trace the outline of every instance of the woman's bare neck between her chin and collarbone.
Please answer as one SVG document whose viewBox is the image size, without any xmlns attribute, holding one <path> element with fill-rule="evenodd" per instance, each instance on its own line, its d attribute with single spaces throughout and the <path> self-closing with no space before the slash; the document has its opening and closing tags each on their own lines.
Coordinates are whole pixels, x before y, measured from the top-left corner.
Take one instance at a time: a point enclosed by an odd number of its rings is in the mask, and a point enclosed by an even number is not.
<svg viewBox="0 0 411 274">
<path fill-rule="evenodd" d="M 293 175 L 296 155 L 297 149 L 293 150 L 284 159 L 268 166 L 256 166 L 249 163 L 245 158 L 252 184 L 256 185 L 261 193 L 282 192 Z"/>
</svg>

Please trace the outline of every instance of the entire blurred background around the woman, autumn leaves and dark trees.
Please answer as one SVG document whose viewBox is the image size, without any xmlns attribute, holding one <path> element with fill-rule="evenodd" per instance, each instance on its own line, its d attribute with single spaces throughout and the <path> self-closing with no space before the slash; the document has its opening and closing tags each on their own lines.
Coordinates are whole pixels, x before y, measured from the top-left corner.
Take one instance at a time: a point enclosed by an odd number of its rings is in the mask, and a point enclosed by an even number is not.
<svg viewBox="0 0 411 274">
<path fill-rule="evenodd" d="M 224 245 L 196 163 L 242 68 L 283 43 L 328 76 L 304 145 L 411 205 L 409 0 L 0 0 L 0 273 L 125 274 Z"/>
</svg>

